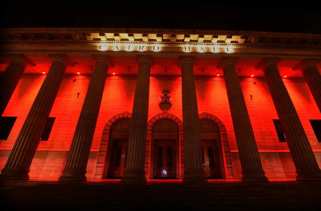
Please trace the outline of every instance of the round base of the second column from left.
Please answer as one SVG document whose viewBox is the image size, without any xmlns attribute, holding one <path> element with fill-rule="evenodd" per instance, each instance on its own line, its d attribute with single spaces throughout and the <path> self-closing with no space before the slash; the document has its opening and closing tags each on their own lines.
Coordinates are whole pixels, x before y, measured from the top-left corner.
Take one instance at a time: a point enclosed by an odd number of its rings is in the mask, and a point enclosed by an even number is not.
<svg viewBox="0 0 321 211">
<path fill-rule="evenodd" d="M 0 180 L 29 180 L 29 168 L 4 167 L 1 170 Z"/>
</svg>

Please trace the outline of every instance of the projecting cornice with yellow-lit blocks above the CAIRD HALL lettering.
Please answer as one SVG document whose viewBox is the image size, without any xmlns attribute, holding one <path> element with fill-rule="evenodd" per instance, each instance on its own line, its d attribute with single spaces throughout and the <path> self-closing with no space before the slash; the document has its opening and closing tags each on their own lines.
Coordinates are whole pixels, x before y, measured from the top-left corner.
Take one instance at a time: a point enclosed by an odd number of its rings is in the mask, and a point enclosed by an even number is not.
<svg viewBox="0 0 321 211">
<path fill-rule="evenodd" d="M 0 44 L 103 44 L 105 42 L 160 45 L 230 45 L 273 48 L 321 48 L 321 34 L 185 30 L 147 28 L 4 28 Z M 182 44 L 183 43 L 183 44 Z"/>
</svg>

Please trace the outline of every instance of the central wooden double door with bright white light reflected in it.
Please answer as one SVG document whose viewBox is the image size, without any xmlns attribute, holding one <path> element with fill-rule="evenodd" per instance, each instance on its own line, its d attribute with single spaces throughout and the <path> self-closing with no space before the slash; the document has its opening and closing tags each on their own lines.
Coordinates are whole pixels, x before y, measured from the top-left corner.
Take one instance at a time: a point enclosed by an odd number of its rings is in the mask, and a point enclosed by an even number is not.
<svg viewBox="0 0 321 211">
<path fill-rule="evenodd" d="M 176 177 L 175 140 L 155 140 L 155 178 Z"/>
</svg>

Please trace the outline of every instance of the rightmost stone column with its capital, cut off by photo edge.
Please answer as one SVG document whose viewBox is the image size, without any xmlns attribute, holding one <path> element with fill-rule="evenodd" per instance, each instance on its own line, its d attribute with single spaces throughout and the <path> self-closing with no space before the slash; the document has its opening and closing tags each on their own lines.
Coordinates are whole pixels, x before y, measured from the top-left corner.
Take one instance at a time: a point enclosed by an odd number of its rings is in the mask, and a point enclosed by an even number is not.
<svg viewBox="0 0 321 211">
<path fill-rule="evenodd" d="M 300 69 L 302 71 L 312 96 L 317 103 L 319 111 L 321 112 L 321 75 L 316 66 L 318 62 L 319 60 L 305 59 L 292 69 Z"/>
</svg>

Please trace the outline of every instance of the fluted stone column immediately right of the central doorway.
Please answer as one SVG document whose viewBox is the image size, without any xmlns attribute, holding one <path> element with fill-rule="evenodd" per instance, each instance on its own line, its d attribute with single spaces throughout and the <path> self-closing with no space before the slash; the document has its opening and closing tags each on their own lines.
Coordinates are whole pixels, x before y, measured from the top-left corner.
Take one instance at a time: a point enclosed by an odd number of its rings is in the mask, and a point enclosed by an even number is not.
<svg viewBox="0 0 321 211">
<path fill-rule="evenodd" d="M 181 57 L 182 71 L 183 137 L 185 150 L 185 171 L 183 182 L 207 182 L 202 163 L 200 124 L 197 109 L 194 61 Z"/>
</svg>

